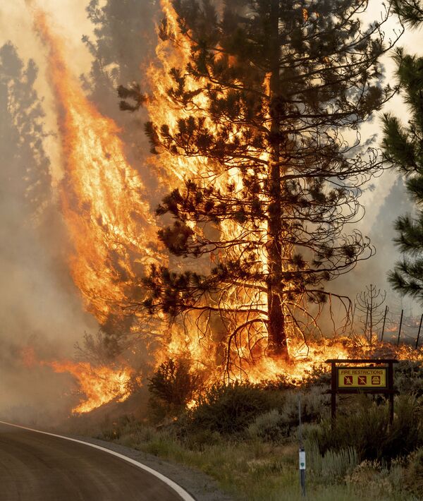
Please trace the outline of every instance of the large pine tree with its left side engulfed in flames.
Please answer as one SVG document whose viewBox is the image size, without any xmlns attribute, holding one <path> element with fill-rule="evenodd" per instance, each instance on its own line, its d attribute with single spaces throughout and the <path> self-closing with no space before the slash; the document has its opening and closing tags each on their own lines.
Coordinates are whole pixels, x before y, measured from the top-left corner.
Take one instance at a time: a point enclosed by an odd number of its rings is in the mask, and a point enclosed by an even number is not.
<svg viewBox="0 0 423 501">
<path fill-rule="evenodd" d="M 243 373 L 264 354 L 287 359 L 288 339 L 306 339 L 336 296 L 325 283 L 372 255 L 343 227 L 360 218 L 360 187 L 381 168 L 358 128 L 393 94 L 379 64 L 390 13 L 363 27 L 362 0 L 162 6 L 166 94 L 120 95 L 123 109 L 147 101 L 164 175 L 183 179 L 157 212 L 174 219 L 160 239 L 188 260 L 176 272 L 152 267 L 142 306 L 194 315 L 219 346 L 216 362 Z"/>
</svg>

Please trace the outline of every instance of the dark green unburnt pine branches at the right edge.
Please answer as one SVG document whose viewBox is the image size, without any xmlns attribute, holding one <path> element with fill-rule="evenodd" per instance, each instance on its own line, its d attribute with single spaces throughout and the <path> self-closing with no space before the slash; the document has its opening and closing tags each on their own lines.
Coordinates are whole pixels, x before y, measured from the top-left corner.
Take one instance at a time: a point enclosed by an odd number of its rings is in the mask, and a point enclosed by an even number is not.
<svg viewBox="0 0 423 501">
<path fill-rule="evenodd" d="M 403 260 L 388 275 L 393 288 L 419 300 L 423 299 L 423 57 L 397 49 L 397 75 L 403 97 L 410 109 L 405 126 L 396 116 L 384 116 L 384 152 L 405 176 L 406 188 L 415 203 L 415 215 L 398 217 L 396 243 Z"/>
</svg>

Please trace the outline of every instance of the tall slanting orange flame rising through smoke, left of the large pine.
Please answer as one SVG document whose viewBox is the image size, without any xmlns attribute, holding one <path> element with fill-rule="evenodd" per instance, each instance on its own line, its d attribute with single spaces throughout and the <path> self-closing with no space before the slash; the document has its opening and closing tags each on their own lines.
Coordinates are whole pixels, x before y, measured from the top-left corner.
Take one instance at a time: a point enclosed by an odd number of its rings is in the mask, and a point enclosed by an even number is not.
<svg viewBox="0 0 423 501">
<path fill-rule="evenodd" d="M 49 47 L 49 77 L 60 104 L 61 207 L 74 248 L 71 274 L 87 309 L 104 323 L 110 313 L 122 314 L 119 306 L 140 270 L 163 261 L 157 229 L 116 123 L 99 114 L 70 75 L 41 11 L 35 26 Z"/>
</svg>

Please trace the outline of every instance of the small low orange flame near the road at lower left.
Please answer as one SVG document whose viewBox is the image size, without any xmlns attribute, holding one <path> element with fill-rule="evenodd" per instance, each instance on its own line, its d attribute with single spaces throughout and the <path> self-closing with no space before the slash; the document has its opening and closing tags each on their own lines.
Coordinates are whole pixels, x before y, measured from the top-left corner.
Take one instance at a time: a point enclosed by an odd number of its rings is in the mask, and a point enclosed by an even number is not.
<svg viewBox="0 0 423 501">
<path fill-rule="evenodd" d="M 38 360 L 32 348 L 22 351 L 22 361 L 27 368 L 49 367 L 55 373 L 68 373 L 78 384 L 80 403 L 73 407 L 73 414 L 85 414 L 109 402 L 123 402 L 130 396 L 128 383 L 133 376 L 133 369 L 128 367 L 110 368 L 92 366 L 88 362 L 75 363 L 68 360 Z"/>
</svg>

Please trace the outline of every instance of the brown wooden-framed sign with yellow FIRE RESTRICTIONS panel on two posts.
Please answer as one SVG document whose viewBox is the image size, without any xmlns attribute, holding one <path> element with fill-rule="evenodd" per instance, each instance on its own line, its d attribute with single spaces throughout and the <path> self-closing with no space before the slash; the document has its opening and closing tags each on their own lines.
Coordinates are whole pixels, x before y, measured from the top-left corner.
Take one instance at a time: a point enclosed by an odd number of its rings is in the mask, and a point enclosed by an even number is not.
<svg viewBox="0 0 423 501">
<path fill-rule="evenodd" d="M 393 364 L 394 358 L 380 360 L 356 359 L 342 360 L 331 358 L 331 416 L 332 423 L 336 419 L 336 395 L 351 393 L 383 393 L 389 396 L 389 423 L 393 423 Z M 342 366 L 338 366 L 342 364 Z M 348 365 L 345 365 L 348 364 Z M 352 365 L 353 364 L 353 365 Z M 366 364 L 366 366 L 360 366 Z"/>
</svg>

